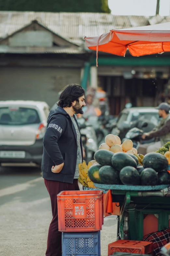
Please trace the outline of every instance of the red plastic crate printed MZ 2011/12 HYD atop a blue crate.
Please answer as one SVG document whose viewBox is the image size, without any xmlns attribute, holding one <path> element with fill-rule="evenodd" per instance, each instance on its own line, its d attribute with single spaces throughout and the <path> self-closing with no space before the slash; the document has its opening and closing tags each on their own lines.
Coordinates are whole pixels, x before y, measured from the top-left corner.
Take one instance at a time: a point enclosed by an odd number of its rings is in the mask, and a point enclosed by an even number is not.
<svg viewBox="0 0 170 256">
<path fill-rule="evenodd" d="M 61 232 L 99 231 L 103 224 L 103 191 L 62 191 L 57 195 Z"/>
</svg>

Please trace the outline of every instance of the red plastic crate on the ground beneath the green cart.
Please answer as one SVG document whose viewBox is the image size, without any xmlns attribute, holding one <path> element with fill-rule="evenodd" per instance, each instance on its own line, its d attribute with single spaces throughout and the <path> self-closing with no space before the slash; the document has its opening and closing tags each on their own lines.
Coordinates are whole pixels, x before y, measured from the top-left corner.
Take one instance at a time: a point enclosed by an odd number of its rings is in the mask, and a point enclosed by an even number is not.
<svg viewBox="0 0 170 256">
<path fill-rule="evenodd" d="M 108 245 L 108 256 L 114 252 L 152 254 L 153 244 L 147 241 L 118 240 Z"/>
</svg>

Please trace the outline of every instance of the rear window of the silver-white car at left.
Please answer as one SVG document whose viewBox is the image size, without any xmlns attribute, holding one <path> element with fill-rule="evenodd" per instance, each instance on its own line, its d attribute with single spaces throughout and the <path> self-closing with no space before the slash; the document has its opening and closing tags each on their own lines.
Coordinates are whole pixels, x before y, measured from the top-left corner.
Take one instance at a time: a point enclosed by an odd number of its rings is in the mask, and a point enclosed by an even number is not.
<svg viewBox="0 0 170 256">
<path fill-rule="evenodd" d="M 0 125 L 29 125 L 40 123 L 35 109 L 23 107 L 0 108 Z"/>
</svg>

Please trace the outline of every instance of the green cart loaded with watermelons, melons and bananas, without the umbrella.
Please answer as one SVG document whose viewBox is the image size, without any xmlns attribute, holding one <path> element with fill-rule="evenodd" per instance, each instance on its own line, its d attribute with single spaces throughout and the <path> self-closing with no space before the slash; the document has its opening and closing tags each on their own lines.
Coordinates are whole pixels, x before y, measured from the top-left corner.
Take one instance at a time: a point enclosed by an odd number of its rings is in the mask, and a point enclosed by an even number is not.
<svg viewBox="0 0 170 256">
<path fill-rule="evenodd" d="M 79 164 L 83 190 L 103 190 L 105 195 L 111 191 L 112 205 L 105 204 L 112 210 L 106 213 L 118 216 L 118 239 L 141 241 L 146 234 L 169 228 L 169 148 L 167 142 L 143 156 L 131 140 L 121 144 L 118 136 L 109 134 L 94 160 Z"/>
</svg>

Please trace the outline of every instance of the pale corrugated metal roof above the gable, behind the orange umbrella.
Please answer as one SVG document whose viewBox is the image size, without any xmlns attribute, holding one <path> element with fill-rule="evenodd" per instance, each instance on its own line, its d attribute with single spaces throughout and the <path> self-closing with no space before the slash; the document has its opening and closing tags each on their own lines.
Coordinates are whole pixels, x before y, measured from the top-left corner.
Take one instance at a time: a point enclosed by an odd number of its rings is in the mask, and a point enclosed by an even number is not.
<svg viewBox="0 0 170 256">
<path fill-rule="evenodd" d="M 120 16 L 89 12 L 17 12 L 0 11 L 0 38 L 16 32 L 37 20 L 65 39 L 83 43 L 83 36 L 97 36 L 114 28 L 146 26 L 170 21 L 170 16 Z"/>
</svg>

